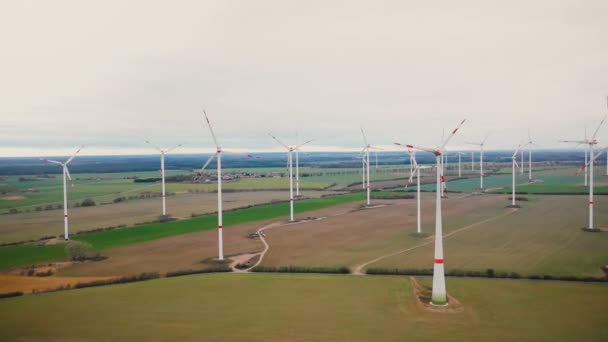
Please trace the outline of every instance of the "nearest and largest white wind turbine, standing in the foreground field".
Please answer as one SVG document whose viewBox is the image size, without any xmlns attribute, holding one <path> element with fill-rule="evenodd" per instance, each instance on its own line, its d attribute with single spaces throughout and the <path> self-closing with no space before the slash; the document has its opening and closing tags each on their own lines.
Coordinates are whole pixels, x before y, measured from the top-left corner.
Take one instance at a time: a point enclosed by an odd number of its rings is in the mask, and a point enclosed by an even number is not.
<svg viewBox="0 0 608 342">
<path fill-rule="evenodd" d="M 465 120 L 462 120 L 458 127 L 456 127 L 450 136 L 437 148 L 424 148 L 413 145 L 406 145 L 412 149 L 418 149 L 421 151 L 431 152 L 435 155 L 435 162 L 437 164 L 437 177 L 436 186 L 437 189 L 441 189 L 441 183 L 444 181 L 441 177 L 441 154 L 445 151 L 445 146 L 448 144 L 450 139 L 458 132 L 458 129 Z M 441 192 L 436 191 L 435 200 L 435 260 L 433 264 L 433 295 L 431 303 L 434 305 L 448 305 L 448 298 L 445 288 L 445 270 L 443 260 L 443 223 L 442 223 L 442 211 L 441 211 Z"/>
</svg>

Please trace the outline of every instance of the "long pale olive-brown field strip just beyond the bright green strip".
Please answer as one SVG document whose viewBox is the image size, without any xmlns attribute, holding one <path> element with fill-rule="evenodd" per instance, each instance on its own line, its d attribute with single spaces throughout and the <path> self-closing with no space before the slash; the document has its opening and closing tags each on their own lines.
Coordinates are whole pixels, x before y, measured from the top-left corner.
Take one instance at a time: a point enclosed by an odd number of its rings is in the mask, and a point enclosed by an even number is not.
<svg viewBox="0 0 608 342">
<path fill-rule="evenodd" d="M 326 191 L 302 191 L 304 197 L 317 198 Z M 245 191 L 224 194 L 224 208 L 233 209 L 287 200 L 285 191 Z M 91 230 L 117 225 L 134 225 L 153 221 L 161 214 L 162 199 L 147 198 L 117 204 L 78 207 L 70 209 L 70 231 Z M 194 193 L 167 197 L 167 211 L 177 218 L 190 218 L 192 213 L 210 213 L 217 210 L 217 194 Z M 63 234 L 63 211 L 35 211 L 1 216 L 0 243 L 38 239 Z"/>
</svg>

